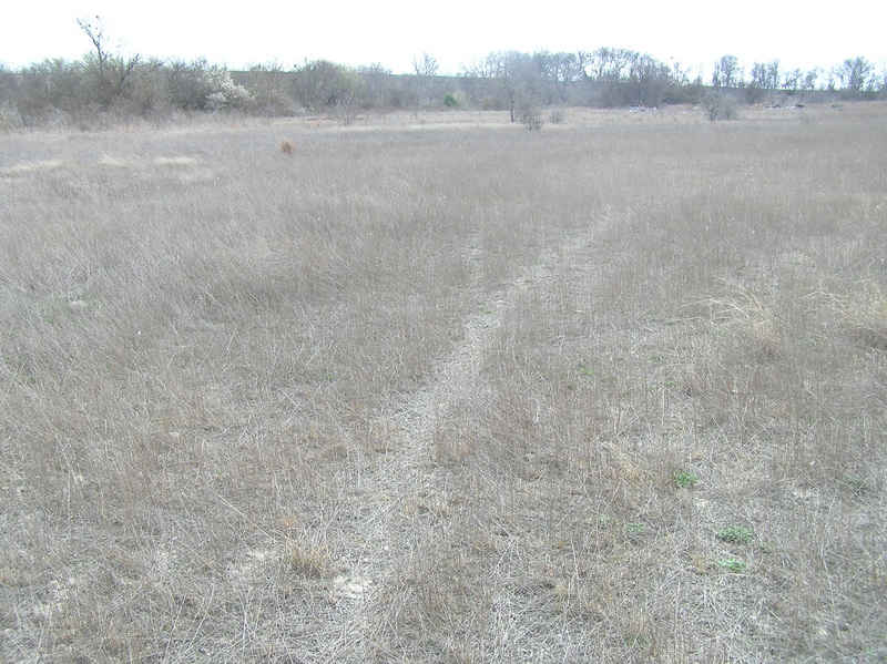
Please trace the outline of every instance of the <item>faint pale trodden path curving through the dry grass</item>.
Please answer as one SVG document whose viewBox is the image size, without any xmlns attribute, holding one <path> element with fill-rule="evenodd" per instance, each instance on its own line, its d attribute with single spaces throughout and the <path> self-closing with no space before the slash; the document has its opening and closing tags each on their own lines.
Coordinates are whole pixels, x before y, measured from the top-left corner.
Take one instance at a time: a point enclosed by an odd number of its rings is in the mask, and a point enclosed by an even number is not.
<svg viewBox="0 0 887 664">
<path fill-rule="evenodd" d="M 486 304 L 465 319 L 462 341 L 438 362 L 428 387 L 396 403 L 380 418 L 380 426 L 397 442 L 353 487 L 354 498 L 359 501 L 359 517 L 349 525 L 355 545 L 343 556 L 347 571 L 333 582 L 332 595 L 338 612 L 334 624 L 327 625 L 330 632 L 318 639 L 325 656 L 340 662 L 374 660 L 374 640 L 368 630 L 378 605 L 376 597 L 392 581 L 398 556 L 406 555 L 409 549 L 404 541 L 410 537 L 404 514 L 420 498 L 434 497 L 440 484 L 435 431 L 453 403 L 482 389 L 485 358 L 499 338 L 506 316 L 530 288 L 541 284 L 544 289 L 544 282 L 553 278 L 559 266 L 572 264 L 590 242 L 588 232 L 568 237 L 490 294 Z M 471 256 L 471 265 L 479 264 L 477 258 Z M 477 269 L 473 275 L 478 293 L 482 292 L 480 272 Z"/>
</svg>

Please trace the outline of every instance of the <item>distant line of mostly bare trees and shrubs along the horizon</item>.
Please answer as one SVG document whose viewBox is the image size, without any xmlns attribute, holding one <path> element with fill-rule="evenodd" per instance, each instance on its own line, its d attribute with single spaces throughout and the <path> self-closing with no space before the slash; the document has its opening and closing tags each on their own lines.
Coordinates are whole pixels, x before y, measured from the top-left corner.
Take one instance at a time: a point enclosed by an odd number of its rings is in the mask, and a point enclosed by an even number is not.
<svg viewBox="0 0 887 664">
<path fill-rule="evenodd" d="M 259 64 L 230 71 L 205 59 L 144 59 L 108 48 L 101 25 L 81 23 L 93 50 L 80 60 L 44 60 L 18 70 L 0 65 L 0 130 L 32 126 L 90 129 L 133 118 L 166 122 L 176 113 L 239 112 L 287 116 L 325 113 L 346 124 L 370 110 L 469 108 L 502 110 L 512 121 L 557 105 L 598 108 L 701 103 L 713 94 L 733 103 L 805 99 L 880 99 L 887 71 L 865 58 L 830 70 L 783 70 L 778 61 L 714 63 L 711 79 L 692 76 L 625 49 L 490 53 L 458 75 L 441 75 L 424 54 L 410 74 L 381 65 L 350 68 L 328 60 L 293 68 Z"/>
</svg>

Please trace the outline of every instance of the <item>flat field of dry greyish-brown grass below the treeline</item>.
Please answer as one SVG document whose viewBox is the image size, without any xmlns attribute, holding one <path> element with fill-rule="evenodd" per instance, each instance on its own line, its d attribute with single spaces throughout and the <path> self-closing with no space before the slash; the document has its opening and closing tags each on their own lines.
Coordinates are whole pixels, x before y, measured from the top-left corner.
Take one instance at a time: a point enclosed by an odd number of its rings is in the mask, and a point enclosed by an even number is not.
<svg viewBox="0 0 887 664">
<path fill-rule="evenodd" d="M 0 136 L 0 658 L 887 662 L 887 105 L 384 120 Z"/>
</svg>

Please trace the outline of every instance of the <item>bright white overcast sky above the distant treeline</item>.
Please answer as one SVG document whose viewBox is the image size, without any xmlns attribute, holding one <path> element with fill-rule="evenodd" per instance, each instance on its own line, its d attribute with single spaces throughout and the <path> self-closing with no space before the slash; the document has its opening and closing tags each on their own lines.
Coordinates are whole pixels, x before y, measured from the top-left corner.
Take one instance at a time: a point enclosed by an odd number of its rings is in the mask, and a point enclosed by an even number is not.
<svg viewBox="0 0 887 664">
<path fill-rule="evenodd" d="M 44 58 L 78 59 L 91 47 L 78 18 L 101 16 L 121 52 L 239 69 L 307 59 L 341 64 L 379 62 L 395 73 L 428 52 L 441 73 L 490 51 L 593 51 L 619 47 L 677 61 L 706 75 L 735 54 L 779 59 L 784 70 L 830 68 L 864 55 L 887 67 L 887 3 L 837 6 L 785 0 L 313 0 L 216 3 L 188 0 L 10 0 L 0 20 L 0 62 L 18 68 Z M 830 10 L 824 7 L 832 8 Z"/>
</svg>

